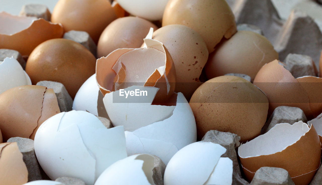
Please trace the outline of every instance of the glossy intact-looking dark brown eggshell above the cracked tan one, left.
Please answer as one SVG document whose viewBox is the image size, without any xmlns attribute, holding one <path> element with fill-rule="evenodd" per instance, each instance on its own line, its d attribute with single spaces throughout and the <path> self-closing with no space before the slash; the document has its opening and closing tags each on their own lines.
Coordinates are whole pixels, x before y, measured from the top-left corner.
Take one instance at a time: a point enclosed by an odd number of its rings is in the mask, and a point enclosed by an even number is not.
<svg viewBox="0 0 322 185">
<path fill-rule="evenodd" d="M 64 84 L 72 98 L 95 73 L 94 55 L 83 45 L 67 39 L 43 42 L 30 54 L 26 72 L 33 84 L 47 80 Z"/>
</svg>

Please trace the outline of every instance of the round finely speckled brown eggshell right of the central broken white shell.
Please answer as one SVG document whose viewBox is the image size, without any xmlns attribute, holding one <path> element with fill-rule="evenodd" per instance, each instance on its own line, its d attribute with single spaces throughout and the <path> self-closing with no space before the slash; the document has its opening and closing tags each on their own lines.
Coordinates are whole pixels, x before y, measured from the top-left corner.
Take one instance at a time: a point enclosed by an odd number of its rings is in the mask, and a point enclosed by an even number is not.
<svg viewBox="0 0 322 185">
<path fill-rule="evenodd" d="M 269 105 L 260 89 L 237 76 L 206 81 L 194 92 L 189 104 L 199 139 L 209 130 L 219 130 L 239 135 L 242 142 L 260 135 Z"/>
</svg>

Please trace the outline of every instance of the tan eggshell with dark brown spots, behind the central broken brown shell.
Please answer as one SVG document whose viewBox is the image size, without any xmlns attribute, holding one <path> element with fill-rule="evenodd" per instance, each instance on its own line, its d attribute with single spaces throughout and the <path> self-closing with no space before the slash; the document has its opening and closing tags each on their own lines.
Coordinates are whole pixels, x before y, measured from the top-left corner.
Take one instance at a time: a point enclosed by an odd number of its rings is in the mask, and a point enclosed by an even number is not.
<svg viewBox="0 0 322 185">
<path fill-rule="evenodd" d="M 176 70 L 175 92 L 189 100 L 202 84 L 199 76 L 208 59 L 203 38 L 187 26 L 173 24 L 154 31 L 152 39 L 162 42 L 170 52 Z"/>
</svg>

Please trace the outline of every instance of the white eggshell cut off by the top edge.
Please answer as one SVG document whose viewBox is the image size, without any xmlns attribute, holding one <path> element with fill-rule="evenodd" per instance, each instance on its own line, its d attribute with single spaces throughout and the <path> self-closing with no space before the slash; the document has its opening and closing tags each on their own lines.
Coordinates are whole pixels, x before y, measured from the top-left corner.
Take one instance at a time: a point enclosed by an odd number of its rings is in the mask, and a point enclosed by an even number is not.
<svg viewBox="0 0 322 185">
<path fill-rule="evenodd" d="M 157 21 L 162 19 L 168 1 L 169 0 L 118 0 L 118 4 L 132 15 L 151 21 Z"/>
</svg>

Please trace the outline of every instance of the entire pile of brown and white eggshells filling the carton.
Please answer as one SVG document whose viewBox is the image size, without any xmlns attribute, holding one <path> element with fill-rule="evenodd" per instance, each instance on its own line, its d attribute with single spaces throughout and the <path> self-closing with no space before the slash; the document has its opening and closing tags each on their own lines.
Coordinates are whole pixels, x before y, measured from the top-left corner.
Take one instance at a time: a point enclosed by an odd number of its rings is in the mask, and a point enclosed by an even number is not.
<svg viewBox="0 0 322 185">
<path fill-rule="evenodd" d="M 86 31 L 99 58 L 62 39 L 71 30 Z M 13 57 L 0 61 L 0 184 L 232 185 L 226 149 L 200 141 L 210 130 L 240 136 L 249 182 L 270 166 L 308 185 L 319 169 L 322 78 L 294 78 L 269 40 L 237 31 L 225 0 L 59 0 L 51 22 L 1 12 L 0 48 L 27 59 L 25 70 Z M 40 81 L 62 83 L 73 110 L 60 112 Z M 260 135 L 278 106 L 301 108 L 311 121 Z M 34 140 L 49 179 L 28 180 L 11 137 Z M 155 156 L 166 164 L 161 182 Z"/>
</svg>

